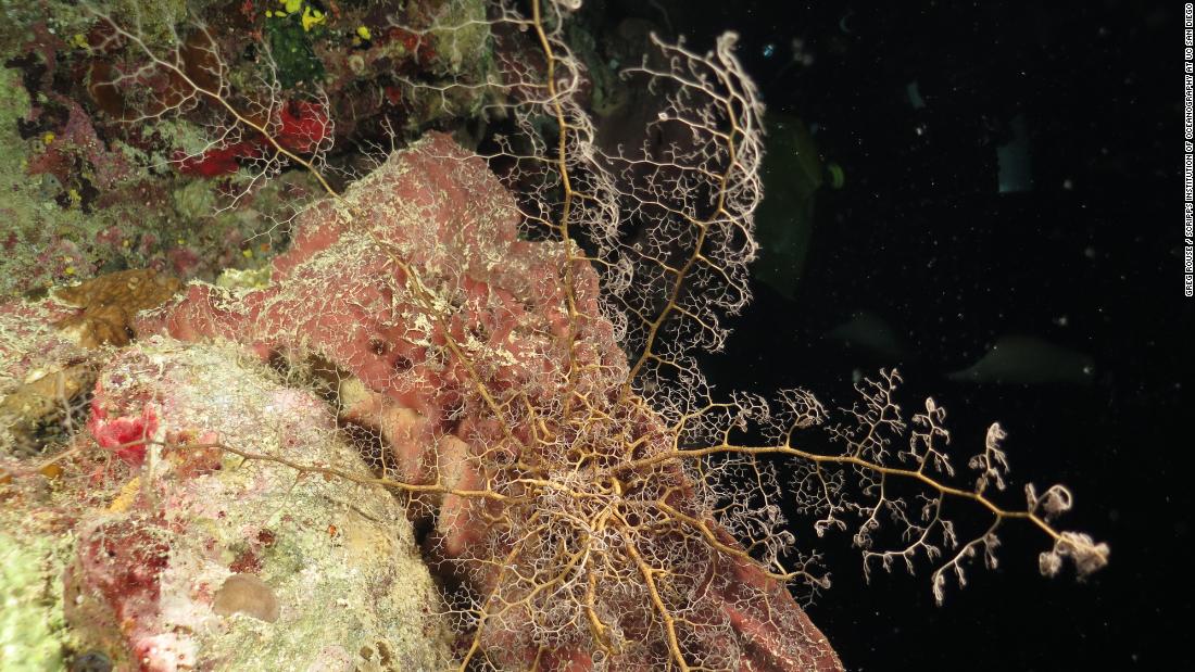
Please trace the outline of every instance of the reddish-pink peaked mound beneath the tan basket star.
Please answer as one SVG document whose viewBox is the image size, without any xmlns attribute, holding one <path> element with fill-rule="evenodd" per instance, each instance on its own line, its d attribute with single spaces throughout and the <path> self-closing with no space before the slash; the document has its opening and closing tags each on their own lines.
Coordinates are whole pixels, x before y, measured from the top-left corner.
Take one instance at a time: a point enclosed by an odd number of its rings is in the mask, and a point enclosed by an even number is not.
<svg viewBox="0 0 1195 672">
<path fill-rule="evenodd" d="M 639 402 L 607 409 L 638 425 L 608 445 L 570 446 L 537 438 L 537 418 L 557 421 L 549 413 L 558 412 L 558 400 L 568 394 L 570 362 L 592 371 L 574 392 L 593 403 L 617 396 L 627 363 L 612 326 L 602 320 L 588 320 L 572 334 L 570 349 L 570 297 L 558 283 L 559 267 L 574 264 L 571 300 L 584 314 L 598 314 L 596 276 L 587 264 L 568 260 L 560 245 L 517 240 L 517 221 L 514 202 L 485 165 L 446 136 L 431 135 L 355 184 L 343 199 L 301 214 L 294 247 L 275 261 L 269 288 L 232 296 L 192 284 L 184 298 L 149 313 L 136 328 L 141 335 L 166 331 L 186 340 L 235 339 L 266 360 L 281 357 L 295 368 L 330 374 L 330 394 L 338 400 L 342 419 L 376 432 L 382 450 L 391 452 L 381 458 L 392 464 L 386 475 L 442 493 L 436 503 L 436 553 L 455 561 L 476 590 L 510 605 L 514 614 L 490 615 L 484 629 L 480 646 L 495 661 L 519 667 L 543 655 L 537 654 L 541 645 L 535 629 L 527 628 L 541 617 L 538 606 L 523 605 L 543 588 L 535 581 L 501 585 L 505 569 L 489 559 L 505 556 L 511 572 L 528 577 L 551 572 L 559 557 L 527 553 L 511 537 L 534 534 L 533 520 L 540 517 L 559 516 L 553 523 L 566 529 L 568 517 L 595 516 L 589 506 L 570 512 L 569 497 L 611 498 L 617 511 L 621 498 L 602 482 L 613 479 L 625 482 L 618 488 L 638 491 L 623 495 L 627 501 L 621 506 L 656 517 L 660 525 L 655 538 L 635 532 L 633 545 L 617 534 L 603 542 L 612 545 L 601 554 L 611 567 L 595 567 L 596 560 L 582 565 L 582 577 L 599 573 L 592 578 L 596 586 L 588 609 L 611 621 L 606 628 L 625 633 L 613 648 L 627 651 L 612 659 L 613 665 L 651 664 L 660 655 L 655 646 L 663 646 L 652 642 L 662 633 L 642 625 L 652 619 L 643 611 L 650 608 L 648 596 L 633 597 L 642 584 L 636 587 L 621 575 L 633 569 L 633 555 L 642 554 L 664 566 L 704 567 L 678 572 L 669 587 L 675 596 L 667 598 L 670 610 L 692 614 L 687 618 L 694 643 L 687 646 L 694 655 L 700 651 L 715 666 L 742 656 L 744 664 L 771 668 L 835 668 L 825 637 L 782 582 L 746 555 L 718 557 L 699 547 L 684 548 L 687 535 L 667 531 L 664 510 L 697 518 L 719 545 L 736 545 L 705 520 L 709 513 L 684 473 L 666 464 L 618 477 L 599 475 L 602 463 L 607 469 L 619 464 L 617 452 L 630 450 L 625 461 L 648 460 L 667 449 L 658 443 L 664 439 L 660 420 Z M 531 412 L 519 420 L 490 414 L 486 400 L 505 406 L 513 399 Z M 519 443 L 526 448 L 509 444 L 510 434 L 523 437 Z M 623 442 L 643 446 L 629 449 Z M 586 462 L 593 464 L 581 469 Z M 560 485 L 563 493 L 526 485 L 570 470 L 575 474 Z M 595 482 L 587 482 L 590 479 Z M 502 524 L 495 526 L 495 520 Z M 681 548 L 669 548 L 673 544 Z M 587 602 L 565 599 L 578 611 Z M 566 639 L 558 645 L 563 651 L 551 654 L 554 660 L 589 655 L 583 640 L 575 640 L 578 633 L 569 633 L 563 622 L 557 627 Z M 582 648 L 570 651 L 574 647 Z"/>
</svg>

